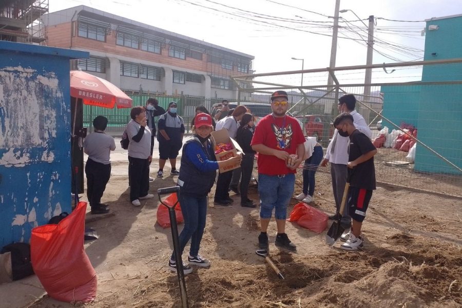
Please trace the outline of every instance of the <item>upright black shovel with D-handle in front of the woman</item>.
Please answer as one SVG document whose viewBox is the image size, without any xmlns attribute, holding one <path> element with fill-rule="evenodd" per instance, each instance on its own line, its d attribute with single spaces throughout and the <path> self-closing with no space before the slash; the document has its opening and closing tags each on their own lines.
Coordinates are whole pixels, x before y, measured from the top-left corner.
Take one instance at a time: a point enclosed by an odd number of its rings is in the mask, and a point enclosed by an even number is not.
<svg viewBox="0 0 462 308">
<path fill-rule="evenodd" d="M 159 196 L 159 201 L 168 208 L 168 214 L 170 216 L 170 225 L 171 225 L 171 238 L 174 244 L 174 254 L 175 254 L 175 261 L 177 264 L 177 275 L 178 275 L 178 285 L 180 286 L 180 297 L 181 303 L 183 308 L 188 308 L 188 296 L 186 294 L 186 282 L 184 281 L 184 273 L 183 273 L 183 260 L 181 260 L 180 254 L 180 240 L 178 239 L 178 226 L 177 226 L 177 215 L 175 214 L 175 206 L 178 204 L 177 202 L 173 206 L 168 206 L 161 200 L 162 195 L 172 194 L 176 192 L 177 197 L 180 192 L 180 186 L 172 186 L 166 188 L 160 188 L 157 190 L 157 194 Z"/>
</svg>

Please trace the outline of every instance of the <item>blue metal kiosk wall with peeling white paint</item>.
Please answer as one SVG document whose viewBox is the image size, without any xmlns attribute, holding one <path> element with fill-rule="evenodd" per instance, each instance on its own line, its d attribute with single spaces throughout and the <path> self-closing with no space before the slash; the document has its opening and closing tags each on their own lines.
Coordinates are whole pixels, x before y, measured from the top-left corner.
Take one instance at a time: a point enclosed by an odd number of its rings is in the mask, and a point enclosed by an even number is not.
<svg viewBox="0 0 462 308">
<path fill-rule="evenodd" d="M 0 247 L 71 210 L 69 60 L 87 52 L 0 42 Z"/>
</svg>

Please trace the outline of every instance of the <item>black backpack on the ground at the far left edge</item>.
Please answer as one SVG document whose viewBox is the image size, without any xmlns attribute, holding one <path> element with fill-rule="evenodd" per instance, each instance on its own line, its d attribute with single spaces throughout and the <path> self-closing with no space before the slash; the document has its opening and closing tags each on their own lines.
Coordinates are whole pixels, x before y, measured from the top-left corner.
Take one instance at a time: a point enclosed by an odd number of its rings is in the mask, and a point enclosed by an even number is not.
<svg viewBox="0 0 462 308">
<path fill-rule="evenodd" d="M 19 280 L 34 274 L 30 262 L 30 245 L 28 243 L 12 243 L 2 248 L 1 254 L 11 253 L 11 269 L 13 280 Z"/>
</svg>

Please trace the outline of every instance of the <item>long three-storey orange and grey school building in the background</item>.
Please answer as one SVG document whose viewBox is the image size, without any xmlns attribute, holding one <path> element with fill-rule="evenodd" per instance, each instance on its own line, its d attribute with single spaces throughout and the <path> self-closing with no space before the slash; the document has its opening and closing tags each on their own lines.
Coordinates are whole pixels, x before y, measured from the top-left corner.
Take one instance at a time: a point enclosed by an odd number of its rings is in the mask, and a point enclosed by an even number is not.
<svg viewBox="0 0 462 308">
<path fill-rule="evenodd" d="M 73 61 L 72 69 L 128 92 L 237 99 L 229 76 L 252 73 L 255 59 L 83 5 L 48 13 L 43 22 L 48 46 L 90 52 L 89 59 Z"/>
</svg>

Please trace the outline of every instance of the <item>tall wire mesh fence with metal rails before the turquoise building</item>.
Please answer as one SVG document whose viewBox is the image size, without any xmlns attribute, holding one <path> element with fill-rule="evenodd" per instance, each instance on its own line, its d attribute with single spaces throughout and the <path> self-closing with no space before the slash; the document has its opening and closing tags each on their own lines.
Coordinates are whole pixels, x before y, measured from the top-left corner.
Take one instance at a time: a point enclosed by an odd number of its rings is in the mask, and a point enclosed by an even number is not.
<svg viewBox="0 0 462 308">
<path fill-rule="evenodd" d="M 290 111 L 324 150 L 338 98 L 353 93 L 372 130 L 378 182 L 462 197 L 462 59 L 233 76 L 255 102 L 288 93 Z M 364 71 L 373 80 L 364 84 Z M 302 74 L 304 75 L 301 78 Z M 335 84 L 326 85 L 332 74 Z M 303 85 L 298 86 L 303 80 Z M 324 83 L 323 83 L 324 82 Z M 245 103 L 244 103 L 245 104 Z M 382 136 L 380 136 L 382 135 Z M 414 146 L 415 144 L 415 146 Z"/>
</svg>

